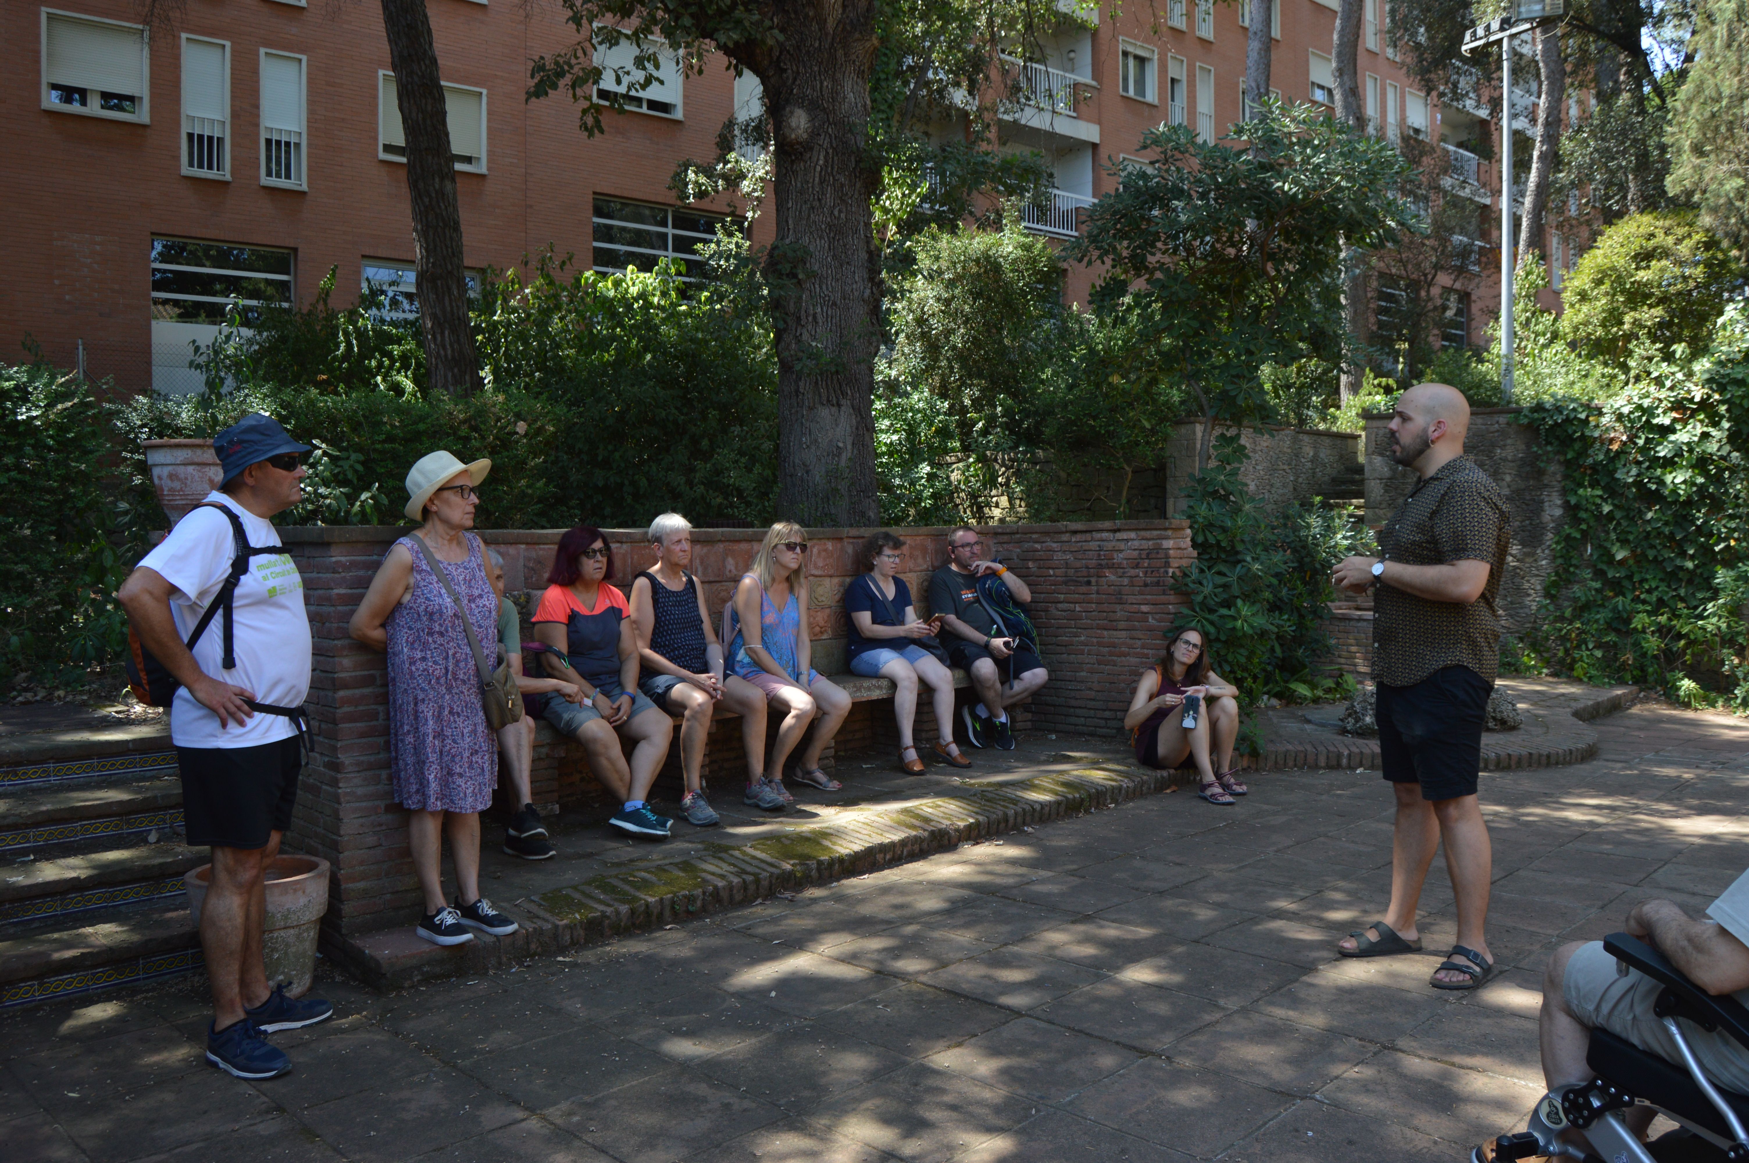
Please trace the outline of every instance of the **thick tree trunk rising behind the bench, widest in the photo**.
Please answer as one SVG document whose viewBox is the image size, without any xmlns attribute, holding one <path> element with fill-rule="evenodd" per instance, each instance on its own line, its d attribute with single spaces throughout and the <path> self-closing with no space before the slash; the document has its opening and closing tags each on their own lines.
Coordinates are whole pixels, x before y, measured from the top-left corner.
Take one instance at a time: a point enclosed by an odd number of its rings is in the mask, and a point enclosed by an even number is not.
<svg viewBox="0 0 1749 1163">
<path fill-rule="evenodd" d="M 778 0 L 759 77 L 775 131 L 778 518 L 878 525 L 880 173 L 866 152 L 876 0 Z"/>
</svg>

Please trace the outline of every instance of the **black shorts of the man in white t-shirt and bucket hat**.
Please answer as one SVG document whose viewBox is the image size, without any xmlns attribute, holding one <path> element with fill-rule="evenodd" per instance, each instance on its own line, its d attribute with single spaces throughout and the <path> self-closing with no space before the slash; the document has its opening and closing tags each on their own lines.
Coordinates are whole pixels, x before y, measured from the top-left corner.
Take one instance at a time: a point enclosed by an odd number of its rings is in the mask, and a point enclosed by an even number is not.
<svg viewBox="0 0 1749 1163">
<path fill-rule="evenodd" d="M 268 832 L 292 825 L 304 766 L 296 735 L 259 747 L 178 747 L 177 764 L 191 845 L 266 848 Z"/>
</svg>

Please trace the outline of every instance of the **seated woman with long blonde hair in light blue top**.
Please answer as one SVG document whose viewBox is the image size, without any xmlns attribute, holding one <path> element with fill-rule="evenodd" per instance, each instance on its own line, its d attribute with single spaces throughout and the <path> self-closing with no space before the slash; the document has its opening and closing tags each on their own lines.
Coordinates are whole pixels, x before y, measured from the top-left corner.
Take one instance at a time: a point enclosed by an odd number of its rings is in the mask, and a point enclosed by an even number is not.
<svg viewBox="0 0 1749 1163">
<path fill-rule="evenodd" d="M 784 787 L 784 761 L 801 742 L 815 714 L 820 724 L 791 775 L 826 792 L 843 787 L 820 770 L 820 750 L 833 742 L 850 714 L 845 689 L 822 679 L 810 665 L 813 647 L 808 642 L 806 558 L 808 530 L 794 521 L 773 525 L 759 546 L 752 570 L 735 588 L 729 635 L 735 673 L 764 691 L 771 707 L 784 715 L 777 743 L 766 756 L 761 785 L 782 796 L 785 804 L 796 799 Z"/>
</svg>

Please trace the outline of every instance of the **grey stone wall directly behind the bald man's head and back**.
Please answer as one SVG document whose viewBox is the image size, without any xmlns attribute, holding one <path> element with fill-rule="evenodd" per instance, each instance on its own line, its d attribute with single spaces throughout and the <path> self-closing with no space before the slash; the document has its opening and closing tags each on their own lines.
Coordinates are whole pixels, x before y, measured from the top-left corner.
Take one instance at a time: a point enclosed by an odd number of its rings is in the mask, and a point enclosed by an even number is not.
<svg viewBox="0 0 1749 1163">
<path fill-rule="evenodd" d="M 1464 449 L 1494 477 L 1511 507 L 1513 542 L 1501 577 L 1501 623 L 1522 637 L 1536 624 L 1543 584 L 1553 568 L 1555 532 L 1567 518 L 1560 462 L 1520 423 L 1518 407 L 1471 413 Z M 1415 472 L 1390 458 L 1389 414 L 1366 416 L 1366 521 L 1375 528 L 1396 512 L 1415 486 Z"/>
</svg>

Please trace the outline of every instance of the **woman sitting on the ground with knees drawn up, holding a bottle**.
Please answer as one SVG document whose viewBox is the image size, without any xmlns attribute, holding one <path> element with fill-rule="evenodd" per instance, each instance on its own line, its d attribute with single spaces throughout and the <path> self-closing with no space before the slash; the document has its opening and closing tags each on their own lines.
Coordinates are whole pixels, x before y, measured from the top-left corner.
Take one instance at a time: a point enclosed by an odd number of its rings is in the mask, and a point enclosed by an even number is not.
<svg viewBox="0 0 1749 1163">
<path fill-rule="evenodd" d="M 1184 700 L 1196 696 L 1195 726 L 1186 728 Z M 1238 687 L 1209 666 L 1200 630 L 1186 626 L 1172 635 L 1167 654 L 1142 672 L 1123 726 L 1132 731 L 1135 761 L 1144 768 L 1172 770 L 1189 756 L 1202 778 L 1198 794 L 1209 803 L 1231 804 L 1245 787 L 1231 770 L 1233 740 L 1238 738 Z M 1214 759 L 1210 764 L 1210 738 Z"/>
</svg>

